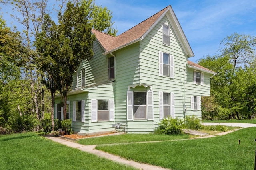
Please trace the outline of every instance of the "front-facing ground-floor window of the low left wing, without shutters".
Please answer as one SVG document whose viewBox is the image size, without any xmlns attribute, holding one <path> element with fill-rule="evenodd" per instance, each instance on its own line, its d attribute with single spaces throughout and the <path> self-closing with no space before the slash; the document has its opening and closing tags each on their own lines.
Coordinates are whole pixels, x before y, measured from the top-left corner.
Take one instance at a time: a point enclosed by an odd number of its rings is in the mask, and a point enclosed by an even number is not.
<svg viewBox="0 0 256 170">
<path fill-rule="evenodd" d="M 98 100 L 97 117 L 98 121 L 109 120 L 108 100 Z"/>
</svg>

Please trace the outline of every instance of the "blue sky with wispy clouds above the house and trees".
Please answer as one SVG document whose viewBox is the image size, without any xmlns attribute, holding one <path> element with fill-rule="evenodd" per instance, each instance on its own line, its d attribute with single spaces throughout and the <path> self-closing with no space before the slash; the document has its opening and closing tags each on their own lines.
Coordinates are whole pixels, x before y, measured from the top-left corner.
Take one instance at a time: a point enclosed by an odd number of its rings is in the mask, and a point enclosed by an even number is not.
<svg viewBox="0 0 256 170">
<path fill-rule="evenodd" d="M 215 55 L 220 41 L 232 33 L 256 36 L 255 0 L 95 0 L 98 6 L 112 11 L 114 28 L 118 35 L 171 5 L 190 43 L 195 57 Z M 8 26 L 13 22 L 7 7 L 1 13 Z"/>
</svg>

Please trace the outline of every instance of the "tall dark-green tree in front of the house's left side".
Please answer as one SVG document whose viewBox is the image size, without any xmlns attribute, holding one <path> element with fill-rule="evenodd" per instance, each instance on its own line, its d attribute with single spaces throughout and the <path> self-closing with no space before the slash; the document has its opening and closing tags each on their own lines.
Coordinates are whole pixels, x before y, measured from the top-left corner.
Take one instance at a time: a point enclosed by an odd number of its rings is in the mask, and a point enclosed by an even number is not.
<svg viewBox="0 0 256 170">
<path fill-rule="evenodd" d="M 88 20 L 88 4 L 82 1 L 76 5 L 67 3 L 66 10 L 58 15 L 58 25 L 50 16 L 44 18 L 42 32 L 36 38 L 36 47 L 40 53 L 43 70 L 54 80 L 60 92 L 63 104 L 63 116 L 66 119 L 67 94 L 72 85 L 74 70 L 81 61 L 93 56 L 92 24 Z M 45 68 L 47 66 L 47 68 Z"/>
</svg>

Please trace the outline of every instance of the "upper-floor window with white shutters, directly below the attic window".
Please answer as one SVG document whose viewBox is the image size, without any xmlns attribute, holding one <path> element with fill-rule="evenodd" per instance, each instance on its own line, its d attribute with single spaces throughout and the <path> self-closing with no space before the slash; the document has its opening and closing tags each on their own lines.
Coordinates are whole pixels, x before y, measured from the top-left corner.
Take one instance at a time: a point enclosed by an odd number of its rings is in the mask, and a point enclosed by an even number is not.
<svg viewBox="0 0 256 170">
<path fill-rule="evenodd" d="M 159 76 L 174 78 L 174 56 L 159 51 Z"/>
</svg>

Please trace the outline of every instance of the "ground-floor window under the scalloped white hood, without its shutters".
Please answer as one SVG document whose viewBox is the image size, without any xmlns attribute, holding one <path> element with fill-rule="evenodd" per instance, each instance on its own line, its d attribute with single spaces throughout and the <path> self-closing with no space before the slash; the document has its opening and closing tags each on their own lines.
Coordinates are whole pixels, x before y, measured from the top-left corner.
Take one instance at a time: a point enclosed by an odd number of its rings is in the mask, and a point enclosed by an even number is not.
<svg viewBox="0 0 256 170">
<path fill-rule="evenodd" d="M 147 118 L 146 92 L 134 92 L 134 119 Z"/>
</svg>

